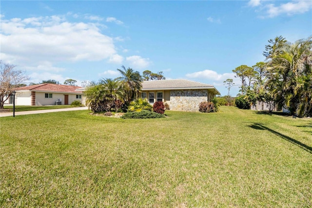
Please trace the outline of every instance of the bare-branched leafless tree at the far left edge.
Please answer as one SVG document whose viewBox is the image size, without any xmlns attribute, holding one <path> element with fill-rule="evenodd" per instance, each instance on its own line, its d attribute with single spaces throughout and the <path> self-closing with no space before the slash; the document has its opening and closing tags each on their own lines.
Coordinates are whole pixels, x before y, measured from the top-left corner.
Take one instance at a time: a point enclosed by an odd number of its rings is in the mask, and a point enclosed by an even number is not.
<svg viewBox="0 0 312 208">
<path fill-rule="evenodd" d="M 25 72 L 14 68 L 15 65 L 0 61 L 0 109 L 3 109 L 4 102 L 12 95 L 14 88 L 29 79 Z"/>
</svg>

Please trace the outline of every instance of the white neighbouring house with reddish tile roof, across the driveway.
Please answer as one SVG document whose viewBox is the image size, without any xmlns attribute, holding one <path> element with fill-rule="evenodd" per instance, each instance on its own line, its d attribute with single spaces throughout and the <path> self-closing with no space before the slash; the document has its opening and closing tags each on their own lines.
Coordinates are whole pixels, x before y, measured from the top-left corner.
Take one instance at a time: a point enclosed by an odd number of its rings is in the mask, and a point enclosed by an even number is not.
<svg viewBox="0 0 312 208">
<path fill-rule="evenodd" d="M 16 105 L 55 105 L 71 104 L 73 101 L 82 100 L 82 91 L 76 91 L 79 86 L 61 84 L 35 84 L 31 86 L 18 87 L 14 90 Z M 13 103 L 13 96 L 10 96 L 6 104 Z"/>
</svg>

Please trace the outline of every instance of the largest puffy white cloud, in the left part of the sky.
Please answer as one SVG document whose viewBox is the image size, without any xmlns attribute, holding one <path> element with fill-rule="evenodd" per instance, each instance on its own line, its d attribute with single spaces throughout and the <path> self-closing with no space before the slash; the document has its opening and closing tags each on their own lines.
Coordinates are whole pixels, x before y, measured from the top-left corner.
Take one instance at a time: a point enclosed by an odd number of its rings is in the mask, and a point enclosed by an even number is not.
<svg viewBox="0 0 312 208">
<path fill-rule="evenodd" d="M 69 22 L 65 16 L 1 19 L 1 52 L 4 62 L 22 68 L 60 71 L 58 62 L 118 62 L 113 38 L 95 23 Z"/>
</svg>

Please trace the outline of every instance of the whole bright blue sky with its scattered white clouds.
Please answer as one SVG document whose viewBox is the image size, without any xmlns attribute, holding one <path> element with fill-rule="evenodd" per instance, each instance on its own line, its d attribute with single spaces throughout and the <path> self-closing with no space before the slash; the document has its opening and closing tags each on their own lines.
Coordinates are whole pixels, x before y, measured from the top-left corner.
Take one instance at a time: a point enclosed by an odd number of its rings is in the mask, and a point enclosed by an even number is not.
<svg viewBox="0 0 312 208">
<path fill-rule="evenodd" d="M 0 1 L 0 59 L 29 82 L 116 78 L 124 65 L 223 85 L 269 39 L 312 35 L 311 0 Z M 238 87 L 230 94 L 235 96 Z"/>
</svg>

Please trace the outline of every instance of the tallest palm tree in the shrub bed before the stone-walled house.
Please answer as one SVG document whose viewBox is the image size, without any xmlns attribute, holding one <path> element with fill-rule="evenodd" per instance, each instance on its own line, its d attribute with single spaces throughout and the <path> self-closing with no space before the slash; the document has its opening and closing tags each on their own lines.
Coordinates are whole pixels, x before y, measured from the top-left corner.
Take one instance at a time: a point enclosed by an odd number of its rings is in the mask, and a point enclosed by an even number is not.
<svg viewBox="0 0 312 208">
<path fill-rule="evenodd" d="M 138 92 L 142 88 L 143 78 L 138 71 L 134 71 L 132 68 L 125 68 L 121 66 L 123 70 L 117 69 L 121 77 L 117 79 L 122 83 L 125 90 L 125 101 L 129 104 L 131 101 L 138 98 Z"/>
</svg>

